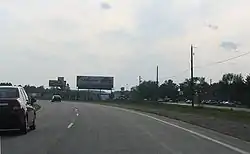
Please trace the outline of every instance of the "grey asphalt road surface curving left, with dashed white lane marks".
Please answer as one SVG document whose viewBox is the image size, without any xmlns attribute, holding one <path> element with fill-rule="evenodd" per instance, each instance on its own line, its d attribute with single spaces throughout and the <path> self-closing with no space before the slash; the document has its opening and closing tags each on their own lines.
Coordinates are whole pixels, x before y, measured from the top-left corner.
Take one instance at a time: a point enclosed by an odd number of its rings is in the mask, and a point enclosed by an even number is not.
<svg viewBox="0 0 250 154">
<path fill-rule="evenodd" d="M 37 129 L 1 132 L 2 154 L 247 154 L 250 144 L 207 129 L 90 103 L 39 101 Z"/>
</svg>

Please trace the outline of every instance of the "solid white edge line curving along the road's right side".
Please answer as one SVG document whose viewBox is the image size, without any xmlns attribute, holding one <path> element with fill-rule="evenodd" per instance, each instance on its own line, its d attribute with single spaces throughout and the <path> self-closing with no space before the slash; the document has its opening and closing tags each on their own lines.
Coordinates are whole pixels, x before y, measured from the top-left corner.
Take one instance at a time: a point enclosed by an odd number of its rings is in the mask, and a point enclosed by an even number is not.
<svg viewBox="0 0 250 154">
<path fill-rule="evenodd" d="M 120 107 L 114 107 L 114 106 L 105 106 L 105 107 L 116 108 L 116 109 L 123 110 L 123 111 L 126 111 L 126 112 L 130 112 L 130 113 L 134 113 L 134 114 L 141 115 L 141 116 L 144 116 L 144 117 L 148 117 L 148 118 L 154 119 L 154 120 L 156 120 L 156 121 L 158 121 L 158 122 L 160 122 L 160 123 L 163 123 L 163 124 L 166 124 L 166 125 L 170 125 L 170 126 L 173 126 L 173 127 L 179 128 L 179 129 L 182 129 L 182 130 L 184 130 L 184 131 L 186 131 L 186 132 L 189 132 L 189 133 L 191 133 L 191 134 L 194 134 L 194 135 L 196 135 L 196 136 L 199 136 L 200 138 L 203 138 L 203 139 L 212 141 L 212 142 L 214 142 L 214 143 L 220 144 L 220 145 L 222 145 L 222 146 L 224 146 L 224 147 L 226 147 L 226 148 L 228 148 L 228 149 L 231 149 L 231 150 L 233 150 L 233 151 L 235 151 L 235 152 L 238 152 L 238 153 L 240 153 L 240 154 L 250 154 L 249 152 L 246 152 L 246 151 L 244 151 L 244 150 L 241 150 L 241 149 L 239 149 L 239 148 L 237 148 L 237 147 L 234 147 L 234 146 L 231 146 L 231 145 L 229 145 L 229 144 L 223 143 L 223 142 L 221 142 L 221 141 L 218 141 L 218 140 L 213 139 L 213 138 L 211 138 L 211 137 L 208 137 L 208 136 L 206 136 L 206 135 L 200 134 L 200 133 L 198 133 L 198 132 L 195 132 L 195 131 L 192 131 L 192 130 L 190 130 L 190 129 L 187 129 L 187 128 L 178 126 L 178 125 L 176 125 L 176 124 L 173 124 L 173 123 L 170 123 L 170 122 L 167 122 L 167 121 L 164 121 L 164 120 L 155 118 L 155 117 L 153 117 L 153 116 L 150 116 L 150 115 L 147 115 L 147 114 L 144 114 L 144 113 L 140 113 L 140 112 L 136 112 L 136 111 L 133 111 L 133 110 L 128 110 L 128 109 L 124 109 L 124 108 L 120 108 Z"/>
</svg>

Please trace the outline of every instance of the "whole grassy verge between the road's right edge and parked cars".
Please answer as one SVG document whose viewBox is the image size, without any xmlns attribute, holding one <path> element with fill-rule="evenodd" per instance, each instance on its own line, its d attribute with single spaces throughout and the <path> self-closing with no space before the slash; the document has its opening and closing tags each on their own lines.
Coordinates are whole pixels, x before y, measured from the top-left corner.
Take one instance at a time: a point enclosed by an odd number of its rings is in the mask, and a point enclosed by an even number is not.
<svg viewBox="0 0 250 154">
<path fill-rule="evenodd" d="M 250 112 L 155 102 L 98 102 L 99 104 L 148 112 L 215 130 L 250 141 Z"/>
</svg>

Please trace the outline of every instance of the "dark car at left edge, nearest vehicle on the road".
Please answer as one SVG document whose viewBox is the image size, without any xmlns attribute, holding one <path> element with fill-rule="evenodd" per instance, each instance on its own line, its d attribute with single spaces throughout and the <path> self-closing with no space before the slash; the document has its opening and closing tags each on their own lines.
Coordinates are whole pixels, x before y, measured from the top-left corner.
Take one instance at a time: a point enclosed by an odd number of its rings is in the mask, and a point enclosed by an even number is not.
<svg viewBox="0 0 250 154">
<path fill-rule="evenodd" d="M 23 134 L 36 129 L 35 102 L 20 86 L 0 86 L 0 129 L 18 129 Z"/>
</svg>

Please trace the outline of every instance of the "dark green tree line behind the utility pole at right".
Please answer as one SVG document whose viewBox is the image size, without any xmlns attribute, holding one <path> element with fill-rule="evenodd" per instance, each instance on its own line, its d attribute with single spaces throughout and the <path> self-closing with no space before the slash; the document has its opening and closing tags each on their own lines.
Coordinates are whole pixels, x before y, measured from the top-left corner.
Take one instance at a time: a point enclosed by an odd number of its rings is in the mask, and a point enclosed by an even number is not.
<svg viewBox="0 0 250 154">
<path fill-rule="evenodd" d="M 194 77 L 193 88 L 200 100 L 240 102 L 250 106 L 250 75 L 243 77 L 241 74 L 227 73 L 212 84 L 206 82 L 205 77 Z M 177 84 L 169 79 L 159 86 L 155 81 L 144 81 L 131 89 L 131 96 L 137 100 L 192 100 L 191 80 L 185 79 Z"/>
</svg>

